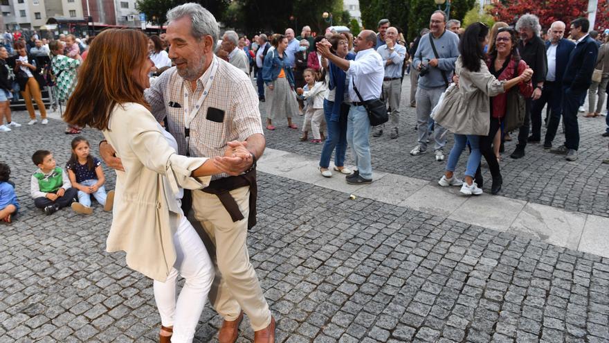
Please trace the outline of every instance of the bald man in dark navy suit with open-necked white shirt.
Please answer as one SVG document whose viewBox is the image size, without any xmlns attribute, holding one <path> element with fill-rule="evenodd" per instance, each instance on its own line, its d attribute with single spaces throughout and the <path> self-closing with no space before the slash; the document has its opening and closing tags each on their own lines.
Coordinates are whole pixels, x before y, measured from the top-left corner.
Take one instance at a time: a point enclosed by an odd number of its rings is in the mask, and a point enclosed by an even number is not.
<svg viewBox="0 0 609 343">
<path fill-rule="evenodd" d="M 547 56 L 545 82 L 543 83 L 540 98 L 533 100 L 531 104 L 532 130 L 528 141 L 540 141 L 541 111 L 546 104 L 550 108 L 550 115 L 555 117 L 556 126 L 548 126 L 547 128 L 548 133 L 545 136 L 545 143 L 543 143 L 543 148 L 545 149 L 552 148 L 552 139 L 556 135 L 556 128 L 561 121 L 561 113 L 563 112 L 561 106 L 563 74 L 569 61 L 569 55 L 575 47 L 575 43 L 563 38 L 565 28 L 566 25 L 563 21 L 554 21 L 549 28 L 550 40 L 545 42 L 545 54 Z M 552 137 L 552 139 L 549 139 L 549 137 Z"/>
</svg>

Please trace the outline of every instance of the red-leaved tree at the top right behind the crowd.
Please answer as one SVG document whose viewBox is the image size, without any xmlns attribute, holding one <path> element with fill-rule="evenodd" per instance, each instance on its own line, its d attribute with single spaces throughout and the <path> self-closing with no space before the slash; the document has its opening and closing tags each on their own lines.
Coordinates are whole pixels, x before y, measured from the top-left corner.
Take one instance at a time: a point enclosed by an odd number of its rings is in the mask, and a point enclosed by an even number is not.
<svg viewBox="0 0 609 343">
<path fill-rule="evenodd" d="M 594 28 L 609 28 L 608 0 L 599 0 Z M 587 17 L 588 0 L 493 0 L 489 13 L 497 21 L 514 24 L 520 15 L 531 13 L 539 17 L 541 26 L 549 28 L 552 22 L 561 20 L 568 24 L 577 17 Z M 568 34 L 568 31 L 567 31 Z"/>
</svg>

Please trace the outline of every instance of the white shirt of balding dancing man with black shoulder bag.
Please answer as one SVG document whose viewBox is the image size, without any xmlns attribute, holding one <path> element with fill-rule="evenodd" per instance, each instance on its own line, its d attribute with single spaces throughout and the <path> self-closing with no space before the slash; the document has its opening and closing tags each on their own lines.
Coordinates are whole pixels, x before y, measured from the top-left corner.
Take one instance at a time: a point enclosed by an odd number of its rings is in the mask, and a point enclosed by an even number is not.
<svg viewBox="0 0 609 343">
<path fill-rule="evenodd" d="M 383 58 L 374 49 L 359 51 L 355 60 L 349 61 L 347 76 L 354 80 L 355 87 L 363 100 L 381 98 L 385 68 L 383 67 Z M 360 102 L 360 98 L 353 90 L 354 82 L 349 81 L 349 98 L 352 101 Z"/>
</svg>

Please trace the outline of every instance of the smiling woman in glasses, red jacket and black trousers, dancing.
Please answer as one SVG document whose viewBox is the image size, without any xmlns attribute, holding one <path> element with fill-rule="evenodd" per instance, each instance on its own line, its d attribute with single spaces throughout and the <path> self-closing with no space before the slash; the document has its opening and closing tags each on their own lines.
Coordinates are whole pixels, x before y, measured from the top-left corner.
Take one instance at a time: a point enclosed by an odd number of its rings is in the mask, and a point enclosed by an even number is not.
<svg viewBox="0 0 609 343">
<path fill-rule="evenodd" d="M 487 60 L 489 71 L 497 80 L 509 80 L 510 78 L 520 76 L 520 74 L 528 68 L 527 63 L 520 59 L 518 49 L 516 49 L 517 43 L 516 31 L 514 31 L 513 28 L 499 28 L 495 42 L 492 43 L 493 49 L 491 49 Z M 520 82 L 518 84 L 518 91 L 520 91 L 520 94 L 525 98 L 530 98 L 533 94 L 533 84 L 531 83 L 531 80 L 528 80 L 528 82 Z M 493 177 L 493 186 L 491 186 L 492 194 L 499 193 L 503 183 L 499 168 L 499 157 L 497 157 L 493 151 L 496 149 L 493 149 L 492 145 L 496 133 L 500 130 L 501 124 L 505 118 L 506 108 L 506 93 L 491 96 L 491 128 L 487 136 L 480 136 L 480 152 L 482 152 L 484 159 L 487 160 Z"/>
</svg>

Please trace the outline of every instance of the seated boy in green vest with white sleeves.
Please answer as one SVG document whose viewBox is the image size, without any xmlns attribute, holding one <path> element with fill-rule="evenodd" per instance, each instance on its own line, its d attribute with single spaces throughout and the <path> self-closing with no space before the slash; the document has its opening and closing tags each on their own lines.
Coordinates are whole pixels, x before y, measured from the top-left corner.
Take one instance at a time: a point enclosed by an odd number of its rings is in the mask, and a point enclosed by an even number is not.
<svg viewBox="0 0 609 343">
<path fill-rule="evenodd" d="M 43 209 L 46 214 L 53 214 L 69 206 L 78 191 L 72 188 L 64 170 L 57 167 L 53 154 L 48 150 L 36 150 L 32 161 L 38 166 L 30 182 L 30 194 L 35 206 Z"/>
</svg>

